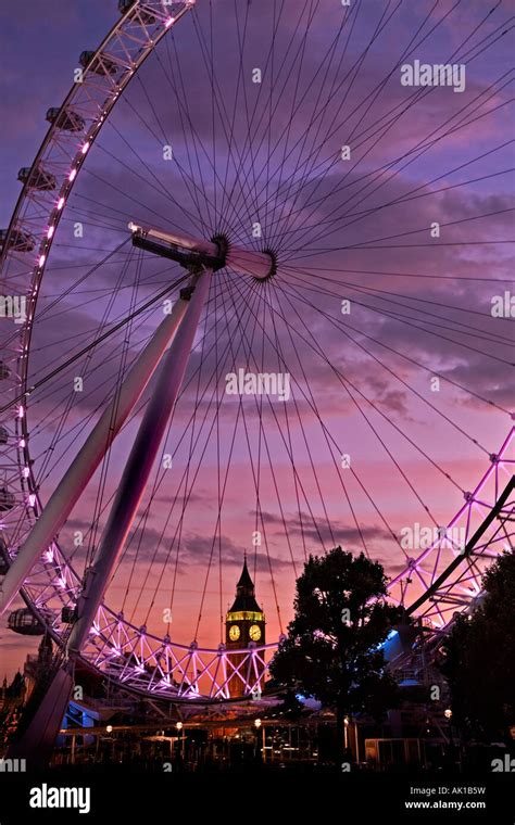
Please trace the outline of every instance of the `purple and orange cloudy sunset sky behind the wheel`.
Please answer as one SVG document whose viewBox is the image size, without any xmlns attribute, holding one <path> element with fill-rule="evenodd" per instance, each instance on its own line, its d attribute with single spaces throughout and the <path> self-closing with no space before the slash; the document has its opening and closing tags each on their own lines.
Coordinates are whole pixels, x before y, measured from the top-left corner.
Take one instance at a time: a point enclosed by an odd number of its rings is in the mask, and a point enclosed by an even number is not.
<svg viewBox="0 0 515 825">
<path fill-rule="evenodd" d="M 305 553 L 335 543 L 365 546 L 388 573 L 399 572 L 404 556 L 387 525 L 399 533 L 416 521 L 447 523 L 511 427 L 513 330 L 490 314 L 513 271 L 505 243 L 513 234 L 513 143 L 502 145 L 513 128 L 510 36 L 495 41 L 511 5 L 487 21 L 483 2 L 452 12 L 447 0 L 395 7 L 369 0 L 346 12 L 337 0 L 287 0 L 267 62 L 274 8 L 281 4 L 254 0 L 247 18 L 241 3 L 237 23 L 233 2 L 216 2 L 210 76 L 209 4 L 199 0 L 197 16 L 173 27 L 133 80 L 74 187 L 40 293 L 33 376 L 114 323 L 130 300 L 142 303 L 179 275 L 159 258 L 146 257 L 140 267 L 126 246 L 118 265 L 88 276 L 87 291 L 77 283 L 126 239 L 130 218 L 193 234 L 223 229 L 247 244 L 255 244 L 259 219 L 262 245 L 278 256 L 279 271 L 261 292 L 231 272 L 215 278 L 163 446 L 174 454 L 173 469 L 156 467 L 151 484 L 159 490 L 141 507 L 145 530 L 136 531 L 111 583 L 108 604 L 158 634 L 166 632 L 162 611 L 172 606 L 173 638 L 218 644 L 244 548 L 269 640 L 279 631 L 276 605 L 282 627 L 289 619 Z M 17 169 L 30 164 L 45 134 L 47 109 L 64 98 L 79 52 L 95 48 L 116 20 L 114 2 L 53 0 L 45 18 L 40 8 L 29 0 L 0 10 L 2 226 L 20 191 Z M 310 10 L 317 12 L 306 29 Z M 378 25 L 385 27 L 374 38 Z M 405 105 L 417 90 L 402 87 L 392 67 L 412 38 L 409 62 L 463 60 L 463 93 L 436 88 Z M 251 81 L 254 67 L 262 68 L 262 89 Z M 216 97 L 224 90 L 222 109 L 212 107 L 213 89 Z M 173 164 L 163 161 L 165 143 Z M 346 143 L 347 164 L 338 157 Z M 74 236 L 77 220 L 83 238 Z M 434 221 L 439 239 L 429 233 Z M 340 308 L 346 299 L 349 316 Z M 134 326 L 128 363 L 160 317 L 158 305 Z M 71 389 L 75 367 L 35 394 L 32 448 L 43 500 L 109 397 L 122 346 L 120 333 L 83 363 L 81 396 Z M 225 375 L 238 368 L 288 371 L 292 398 L 224 396 Z M 449 379 L 438 393 L 430 390 L 434 373 Z M 223 401 L 217 416 L 210 397 Z M 105 500 L 137 423 L 113 449 Z M 341 453 L 351 455 L 353 472 L 341 470 Z M 88 530 L 97 487 L 98 478 L 62 531 L 64 548 L 74 531 Z M 263 544 L 254 554 L 256 512 Z M 84 553 L 75 560 L 80 568 Z M 2 631 L 1 642 L 12 669 L 24 639 Z"/>
</svg>

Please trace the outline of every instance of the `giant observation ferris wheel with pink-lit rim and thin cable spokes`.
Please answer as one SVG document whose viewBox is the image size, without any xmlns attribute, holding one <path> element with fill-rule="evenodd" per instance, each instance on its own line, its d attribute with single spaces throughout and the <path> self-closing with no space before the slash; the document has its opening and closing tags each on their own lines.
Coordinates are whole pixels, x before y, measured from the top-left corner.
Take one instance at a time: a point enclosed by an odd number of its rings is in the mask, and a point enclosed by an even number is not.
<svg viewBox="0 0 515 825">
<path fill-rule="evenodd" d="M 341 545 L 441 632 L 512 546 L 513 15 L 118 9 L 0 234 L 10 626 L 147 695 L 251 694 Z M 268 644 L 235 653 L 243 553 Z"/>
</svg>

